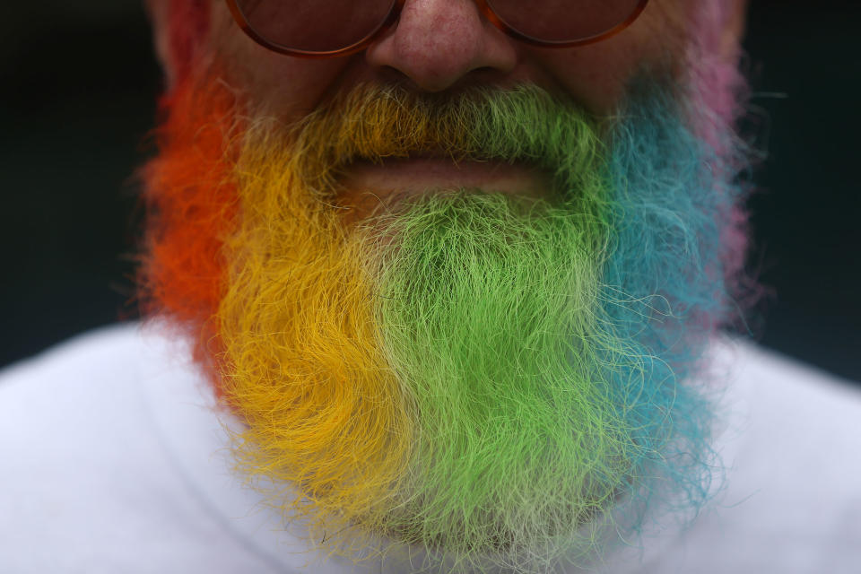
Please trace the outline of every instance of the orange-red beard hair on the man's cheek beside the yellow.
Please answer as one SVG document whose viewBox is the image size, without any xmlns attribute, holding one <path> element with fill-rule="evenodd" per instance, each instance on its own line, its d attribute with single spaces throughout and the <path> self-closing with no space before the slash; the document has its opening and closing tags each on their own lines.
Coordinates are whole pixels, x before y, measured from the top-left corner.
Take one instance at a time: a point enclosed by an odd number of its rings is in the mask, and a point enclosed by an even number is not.
<svg viewBox="0 0 861 574">
<path fill-rule="evenodd" d="M 212 375 L 220 346 L 212 317 L 226 280 L 222 247 L 237 218 L 230 144 L 242 132 L 237 101 L 222 83 L 188 77 L 161 109 L 159 155 L 142 173 L 147 230 L 139 296 L 145 315 L 164 313 L 190 335 L 196 361 Z"/>
</svg>

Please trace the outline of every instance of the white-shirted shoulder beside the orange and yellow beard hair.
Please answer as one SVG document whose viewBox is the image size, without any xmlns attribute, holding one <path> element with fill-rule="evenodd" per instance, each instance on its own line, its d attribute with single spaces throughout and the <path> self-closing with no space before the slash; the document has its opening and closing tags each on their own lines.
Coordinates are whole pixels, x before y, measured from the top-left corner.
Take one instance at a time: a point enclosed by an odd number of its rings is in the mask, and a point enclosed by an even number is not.
<svg viewBox="0 0 861 574">
<path fill-rule="evenodd" d="M 203 381 L 181 339 L 111 326 L 0 372 L 0 570 L 270 571 L 173 454 L 211 457 Z M 214 422 L 213 422 L 214 424 Z"/>
</svg>

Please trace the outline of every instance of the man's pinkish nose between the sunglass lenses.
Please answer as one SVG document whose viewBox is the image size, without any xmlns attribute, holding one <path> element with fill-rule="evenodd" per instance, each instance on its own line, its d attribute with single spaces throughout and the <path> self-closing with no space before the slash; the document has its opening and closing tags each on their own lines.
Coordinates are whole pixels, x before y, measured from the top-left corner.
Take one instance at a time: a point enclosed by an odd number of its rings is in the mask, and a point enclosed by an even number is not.
<svg viewBox="0 0 861 574">
<path fill-rule="evenodd" d="M 396 26 L 368 48 L 366 58 L 422 91 L 444 91 L 476 71 L 509 74 L 517 48 L 483 18 L 474 0 L 407 0 Z"/>
</svg>

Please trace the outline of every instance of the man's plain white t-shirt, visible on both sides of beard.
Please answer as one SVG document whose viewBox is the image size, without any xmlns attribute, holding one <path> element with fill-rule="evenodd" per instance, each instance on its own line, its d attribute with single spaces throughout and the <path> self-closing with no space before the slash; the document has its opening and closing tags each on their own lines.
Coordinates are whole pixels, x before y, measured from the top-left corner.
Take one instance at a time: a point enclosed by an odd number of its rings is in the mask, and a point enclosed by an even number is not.
<svg viewBox="0 0 861 574">
<path fill-rule="evenodd" d="M 861 573 L 861 392 L 752 344 L 714 355 L 733 373 L 725 490 L 599 570 Z M 187 347 L 153 326 L 0 373 L 0 573 L 395 571 L 304 552 L 231 472 L 214 404 Z"/>
</svg>

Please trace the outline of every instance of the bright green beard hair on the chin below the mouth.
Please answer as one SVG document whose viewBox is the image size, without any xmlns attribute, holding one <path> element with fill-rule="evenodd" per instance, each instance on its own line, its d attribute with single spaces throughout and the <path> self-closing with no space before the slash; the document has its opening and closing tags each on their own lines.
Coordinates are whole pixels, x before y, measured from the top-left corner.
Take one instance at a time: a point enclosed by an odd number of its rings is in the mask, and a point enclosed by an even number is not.
<svg viewBox="0 0 861 574">
<path fill-rule="evenodd" d="M 620 344 L 598 326 L 604 223 L 462 191 L 370 229 L 380 347 L 417 413 L 386 529 L 455 554 L 570 548 L 642 456 L 601 365 Z"/>
</svg>

